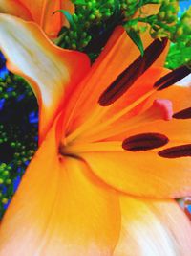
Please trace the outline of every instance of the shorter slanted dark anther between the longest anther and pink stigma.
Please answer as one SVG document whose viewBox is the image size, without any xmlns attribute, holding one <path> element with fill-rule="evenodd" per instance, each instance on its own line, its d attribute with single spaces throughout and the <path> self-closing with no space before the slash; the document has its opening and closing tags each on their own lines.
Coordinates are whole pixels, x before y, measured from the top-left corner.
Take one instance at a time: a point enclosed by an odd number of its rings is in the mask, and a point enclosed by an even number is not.
<svg viewBox="0 0 191 256">
<path fill-rule="evenodd" d="M 154 87 L 158 87 L 158 91 L 163 90 L 173 85 L 175 82 L 180 81 L 190 73 L 191 69 L 186 65 L 182 65 L 176 68 L 175 70 L 171 71 L 167 75 L 161 77 L 159 81 L 155 82 Z"/>
</svg>

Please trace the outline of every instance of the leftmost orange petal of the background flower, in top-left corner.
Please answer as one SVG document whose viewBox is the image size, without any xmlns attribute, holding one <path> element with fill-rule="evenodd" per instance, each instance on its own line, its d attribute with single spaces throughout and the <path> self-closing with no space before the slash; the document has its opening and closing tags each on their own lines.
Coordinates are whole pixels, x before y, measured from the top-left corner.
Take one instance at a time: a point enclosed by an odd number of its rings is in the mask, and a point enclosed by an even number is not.
<svg viewBox="0 0 191 256">
<path fill-rule="evenodd" d="M 17 0 L 0 0 L 0 12 L 32 20 L 31 12 Z"/>
</svg>

